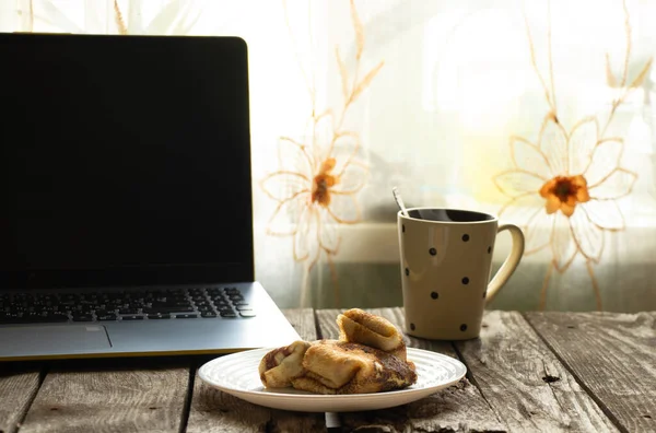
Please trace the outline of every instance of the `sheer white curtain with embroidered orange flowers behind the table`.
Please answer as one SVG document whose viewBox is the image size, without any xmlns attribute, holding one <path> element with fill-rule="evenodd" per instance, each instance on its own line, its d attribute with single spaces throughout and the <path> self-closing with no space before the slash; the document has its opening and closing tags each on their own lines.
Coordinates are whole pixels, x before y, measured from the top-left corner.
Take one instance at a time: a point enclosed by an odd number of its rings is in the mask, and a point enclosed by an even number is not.
<svg viewBox="0 0 656 433">
<path fill-rule="evenodd" d="M 490 307 L 656 309 L 654 16 L 648 0 L 0 0 L 4 32 L 248 43 L 256 272 L 283 307 L 401 304 L 397 186 L 522 226 Z M 502 235 L 493 271 L 508 251 Z"/>
</svg>

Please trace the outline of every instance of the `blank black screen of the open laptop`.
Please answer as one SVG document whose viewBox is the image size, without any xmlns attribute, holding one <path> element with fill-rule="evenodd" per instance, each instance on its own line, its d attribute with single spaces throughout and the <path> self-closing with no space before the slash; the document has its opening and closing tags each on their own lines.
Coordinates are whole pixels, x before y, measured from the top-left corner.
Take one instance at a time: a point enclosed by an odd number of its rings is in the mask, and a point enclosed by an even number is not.
<svg viewBox="0 0 656 433">
<path fill-rule="evenodd" d="M 0 35 L 0 288 L 253 280 L 246 45 Z"/>
</svg>

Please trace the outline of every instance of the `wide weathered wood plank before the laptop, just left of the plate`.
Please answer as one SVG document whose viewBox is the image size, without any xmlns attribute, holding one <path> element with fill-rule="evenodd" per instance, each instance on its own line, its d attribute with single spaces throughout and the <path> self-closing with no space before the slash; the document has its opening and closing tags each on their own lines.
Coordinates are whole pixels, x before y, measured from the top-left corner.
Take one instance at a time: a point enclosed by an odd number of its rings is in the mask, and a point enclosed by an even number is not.
<svg viewBox="0 0 656 433">
<path fill-rule="evenodd" d="M 134 360 L 136 361 L 136 360 Z M 189 368 L 134 361 L 57 367 L 38 391 L 21 433 L 178 432 Z"/>
</svg>

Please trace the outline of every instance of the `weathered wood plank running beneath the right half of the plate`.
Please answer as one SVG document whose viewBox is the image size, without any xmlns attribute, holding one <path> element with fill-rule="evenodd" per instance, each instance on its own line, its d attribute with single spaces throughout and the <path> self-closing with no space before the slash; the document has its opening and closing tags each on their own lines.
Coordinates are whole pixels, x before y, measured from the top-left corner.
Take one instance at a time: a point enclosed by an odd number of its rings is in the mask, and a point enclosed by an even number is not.
<svg viewBox="0 0 656 433">
<path fill-rule="evenodd" d="M 318 311 L 320 333 L 324 338 L 337 338 L 335 319 L 341 311 Z M 367 312 L 383 316 L 401 328 L 401 308 L 372 308 Z M 453 344 L 444 341 L 430 341 L 406 336 L 406 344 L 412 348 L 432 350 L 457 358 Z M 397 408 L 352 412 L 341 414 L 344 431 L 377 432 L 499 432 L 506 428 L 483 399 L 476 386 L 462 379 L 432 396 Z"/>
</svg>

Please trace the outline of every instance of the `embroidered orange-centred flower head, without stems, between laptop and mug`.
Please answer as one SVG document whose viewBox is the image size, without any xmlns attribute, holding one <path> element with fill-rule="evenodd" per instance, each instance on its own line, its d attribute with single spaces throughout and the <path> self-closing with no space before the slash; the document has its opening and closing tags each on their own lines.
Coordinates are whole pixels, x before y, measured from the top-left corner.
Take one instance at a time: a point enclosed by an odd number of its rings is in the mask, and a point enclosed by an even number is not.
<svg viewBox="0 0 656 433">
<path fill-rule="evenodd" d="M 309 128 L 307 143 L 279 139 L 280 169 L 260 185 L 278 201 L 267 233 L 291 236 L 294 260 L 312 269 L 321 251 L 337 254 L 337 224 L 360 221 L 355 195 L 366 185 L 368 169 L 358 157 L 359 136 L 335 132 L 331 112 L 313 118 Z"/>
</svg>

